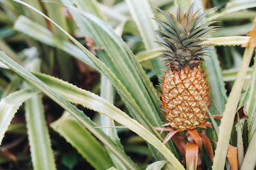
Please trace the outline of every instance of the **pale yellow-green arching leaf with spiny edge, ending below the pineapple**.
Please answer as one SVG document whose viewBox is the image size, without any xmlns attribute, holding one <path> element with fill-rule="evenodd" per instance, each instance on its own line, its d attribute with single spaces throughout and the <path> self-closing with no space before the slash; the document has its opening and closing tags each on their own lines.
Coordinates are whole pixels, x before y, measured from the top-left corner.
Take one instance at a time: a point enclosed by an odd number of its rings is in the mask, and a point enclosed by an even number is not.
<svg viewBox="0 0 256 170">
<path fill-rule="evenodd" d="M 159 139 L 157 139 L 146 128 L 141 126 L 141 124 L 139 124 L 137 121 L 131 119 L 119 108 L 116 108 L 105 99 L 99 97 L 98 95 L 90 93 L 89 91 L 85 91 L 72 84 L 64 82 L 61 79 L 57 79 L 41 73 L 34 73 L 34 75 L 36 75 L 36 77 L 45 82 L 47 86 L 51 87 L 54 91 L 65 97 L 65 99 L 69 100 L 70 102 L 75 104 L 81 104 L 86 108 L 90 108 L 112 119 L 115 119 L 115 121 L 137 133 L 139 136 L 143 137 L 146 141 L 148 141 L 155 148 L 157 148 L 160 152 L 162 152 L 162 154 L 166 157 L 168 161 L 173 164 L 173 166 L 181 166 L 183 168 L 183 166 L 178 163 L 177 159 L 170 152 L 170 150 L 168 150 L 166 146 L 164 146 L 164 144 L 159 141 Z"/>
</svg>

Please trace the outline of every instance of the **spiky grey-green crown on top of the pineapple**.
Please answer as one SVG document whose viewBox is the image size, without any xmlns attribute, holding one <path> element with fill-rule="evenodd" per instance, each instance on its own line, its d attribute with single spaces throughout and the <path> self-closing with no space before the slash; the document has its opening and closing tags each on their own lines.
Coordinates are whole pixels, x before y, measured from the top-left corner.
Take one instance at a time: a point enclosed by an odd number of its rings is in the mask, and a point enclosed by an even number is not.
<svg viewBox="0 0 256 170">
<path fill-rule="evenodd" d="M 169 68 L 177 69 L 184 66 L 193 67 L 204 61 L 201 57 L 208 55 L 205 50 L 211 49 L 212 44 L 201 44 L 209 33 L 218 29 L 218 26 L 209 26 L 216 21 L 207 22 L 198 26 L 199 22 L 204 16 L 211 11 L 211 9 L 204 13 L 195 16 L 198 11 L 193 14 L 195 2 L 189 7 L 188 11 L 183 14 L 180 7 L 177 7 L 177 18 L 168 11 L 163 11 L 157 8 L 167 19 L 167 23 L 153 18 L 161 27 L 154 32 L 155 36 L 160 41 L 156 41 L 162 45 L 166 50 L 159 50 L 161 54 L 156 57 L 164 57 L 164 60 Z M 209 55 L 208 55 L 209 56 Z M 161 61 L 162 61 L 161 60 Z"/>
</svg>

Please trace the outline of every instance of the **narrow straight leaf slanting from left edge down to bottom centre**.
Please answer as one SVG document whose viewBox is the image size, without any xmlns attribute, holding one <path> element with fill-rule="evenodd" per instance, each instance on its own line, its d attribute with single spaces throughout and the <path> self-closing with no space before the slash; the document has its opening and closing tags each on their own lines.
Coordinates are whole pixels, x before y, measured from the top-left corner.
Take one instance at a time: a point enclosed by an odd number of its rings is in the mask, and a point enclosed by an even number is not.
<svg viewBox="0 0 256 170">
<path fill-rule="evenodd" d="M 84 115 L 84 113 L 68 102 L 61 95 L 53 91 L 46 84 L 44 84 L 40 79 L 36 78 L 34 75 L 26 71 L 22 66 L 18 65 L 16 62 L 11 60 L 7 55 L 5 55 L 2 51 L 0 51 L 0 61 L 9 66 L 13 71 L 15 71 L 18 75 L 26 79 L 30 84 L 34 85 L 34 87 L 40 89 L 43 93 L 45 93 L 48 97 L 52 98 L 57 104 L 67 110 L 70 114 L 72 114 L 79 122 L 88 128 L 93 135 L 95 135 L 100 141 L 103 142 L 112 152 L 117 155 L 120 160 L 128 166 L 131 170 L 138 170 L 139 168 L 130 158 L 124 153 L 123 150 L 115 144 L 112 139 L 106 135 L 101 129 L 94 128 L 97 127 L 96 124 L 91 121 L 91 119 Z M 72 95 L 72 94 L 70 94 Z M 90 99 L 89 99 L 90 100 Z M 2 102 L 2 101 L 1 101 Z M 21 103 L 20 103 L 21 104 Z M 19 105 L 18 105 L 19 106 Z M 11 108 L 12 109 L 12 108 Z M 18 108 L 16 108 L 18 109 Z M 15 113 L 15 112 L 14 112 Z M 13 115 L 14 115 L 13 113 Z M 12 117 L 11 117 L 12 118 Z M 8 121 L 7 121 L 8 122 Z M 5 130 L 6 131 L 6 130 Z M 4 131 L 4 132 L 5 132 Z"/>
</svg>

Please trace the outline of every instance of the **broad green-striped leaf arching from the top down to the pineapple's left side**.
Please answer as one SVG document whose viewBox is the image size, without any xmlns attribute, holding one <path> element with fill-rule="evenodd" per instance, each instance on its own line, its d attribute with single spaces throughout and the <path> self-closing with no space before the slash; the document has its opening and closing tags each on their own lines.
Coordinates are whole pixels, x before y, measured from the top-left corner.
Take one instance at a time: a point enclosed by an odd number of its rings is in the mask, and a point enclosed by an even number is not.
<svg viewBox="0 0 256 170">
<path fill-rule="evenodd" d="M 159 119 L 158 115 L 160 108 L 157 93 L 125 42 L 108 24 L 102 22 L 99 18 L 79 9 L 74 9 L 74 5 L 68 0 L 61 1 L 67 5 L 81 31 L 85 35 L 92 36 L 97 46 L 104 48 L 103 51 L 97 51 L 97 55 L 120 79 L 142 110 L 138 114 L 131 114 L 148 128 L 152 128 L 150 124 L 161 126 L 162 120 Z M 144 78 L 147 82 L 143 82 L 144 79 L 141 78 Z M 148 90 L 152 92 L 149 93 Z M 152 99 L 155 101 L 152 102 Z M 148 115 L 147 118 L 145 114 Z"/>
</svg>

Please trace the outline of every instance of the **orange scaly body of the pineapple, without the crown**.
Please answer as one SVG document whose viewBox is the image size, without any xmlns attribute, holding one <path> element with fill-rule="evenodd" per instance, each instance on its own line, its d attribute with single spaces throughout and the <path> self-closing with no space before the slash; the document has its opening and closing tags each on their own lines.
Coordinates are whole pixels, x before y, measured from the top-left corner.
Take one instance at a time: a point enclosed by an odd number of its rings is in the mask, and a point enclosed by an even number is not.
<svg viewBox="0 0 256 170">
<path fill-rule="evenodd" d="M 165 126 L 190 130 L 203 124 L 208 118 L 204 104 L 209 106 L 210 97 L 200 64 L 194 67 L 185 66 L 180 70 L 170 69 L 169 72 L 164 71 L 164 74 L 165 77 L 161 77 L 163 83 L 159 84 L 163 94 L 159 95 L 168 121 Z"/>
</svg>

